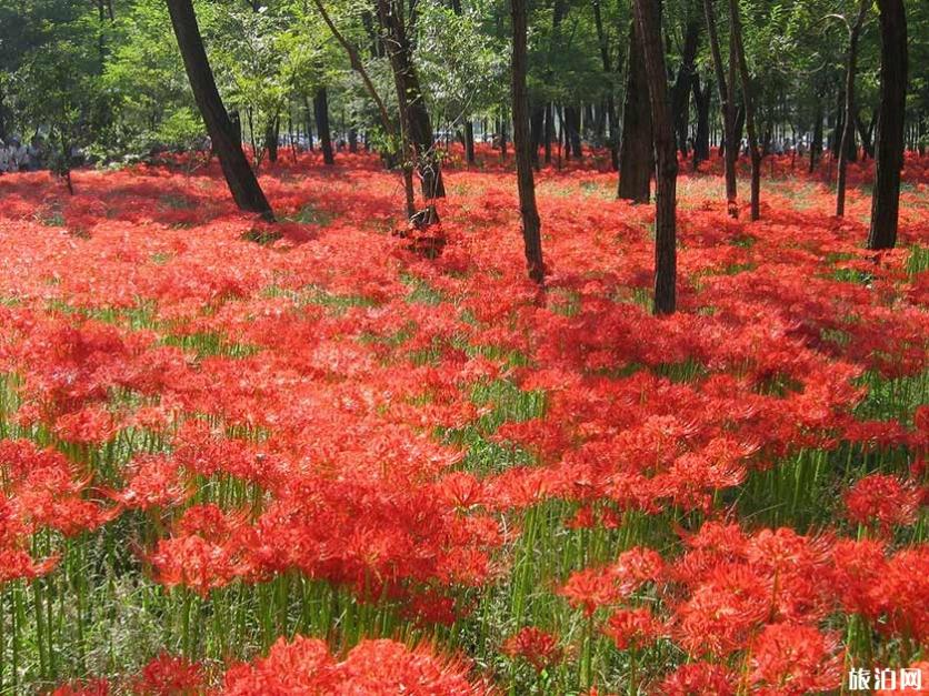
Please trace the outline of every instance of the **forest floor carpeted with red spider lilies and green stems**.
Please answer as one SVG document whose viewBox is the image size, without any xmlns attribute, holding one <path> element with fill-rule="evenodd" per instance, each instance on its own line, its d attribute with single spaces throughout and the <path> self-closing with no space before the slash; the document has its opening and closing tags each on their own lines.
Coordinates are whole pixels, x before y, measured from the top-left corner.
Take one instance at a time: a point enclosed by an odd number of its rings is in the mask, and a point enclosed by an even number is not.
<svg viewBox="0 0 929 696">
<path fill-rule="evenodd" d="M 658 319 L 652 206 L 543 170 L 541 293 L 481 155 L 427 234 L 364 155 L 274 225 L 216 163 L 0 178 L 0 693 L 929 686 L 929 159 L 879 255 L 867 163 L 845 220 L 683 171 Z"/>
</svg>

